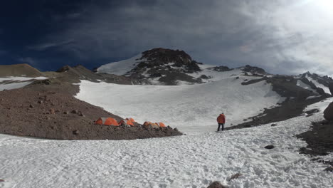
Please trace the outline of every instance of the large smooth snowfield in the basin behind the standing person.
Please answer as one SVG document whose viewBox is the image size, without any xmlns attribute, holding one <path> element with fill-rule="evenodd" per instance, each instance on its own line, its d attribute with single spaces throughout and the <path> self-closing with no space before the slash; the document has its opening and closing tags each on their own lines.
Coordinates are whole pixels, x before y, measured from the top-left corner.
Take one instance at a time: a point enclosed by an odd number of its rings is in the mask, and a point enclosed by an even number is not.
<svg viewBox="0 0 333 188">
<path fill-rule="evenodd" d="M 236 77 L 240 77 L 236 79 Z M 226 127 L 258 115 L 285 100 L 265 81 L 240 83 L 240 70 L 217 73 L 199 85 L 117 85 L 81 80 L 75 97 L 137 122 L 164 122 L 188 134 L 216 130 L 216 117 L 226 115 Z"/>
</svg>

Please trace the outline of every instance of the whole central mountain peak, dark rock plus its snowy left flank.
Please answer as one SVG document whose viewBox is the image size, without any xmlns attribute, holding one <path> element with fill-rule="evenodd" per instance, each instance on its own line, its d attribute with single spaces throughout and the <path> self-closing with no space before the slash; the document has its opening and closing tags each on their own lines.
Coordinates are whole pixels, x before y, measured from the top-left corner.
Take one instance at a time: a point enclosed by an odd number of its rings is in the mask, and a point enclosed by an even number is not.
<svg viewBox="0 0 333 188">
<path fill-rule="evenodd" d="M 184 51 L 153 48 L 128 60 L 100 66 L 97 72 L 126 75 L 148 84 L 157 81 L 166 85 L 176 85 L 179 80 L 201 83 L 201 79 L 188 75 L 201 71 L 199 64 Z"/>
</svg>

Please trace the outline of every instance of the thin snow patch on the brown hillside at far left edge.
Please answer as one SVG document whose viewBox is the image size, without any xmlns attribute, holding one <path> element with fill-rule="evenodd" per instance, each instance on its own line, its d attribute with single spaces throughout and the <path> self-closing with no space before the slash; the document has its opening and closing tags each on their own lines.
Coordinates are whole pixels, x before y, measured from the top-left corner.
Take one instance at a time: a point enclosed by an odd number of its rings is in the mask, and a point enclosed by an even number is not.
<svg viewBox="0 0 333 188">
<path fill-rule="evenodd" d="M 23 88 L 26 85 L 33 83 L 31 80 L 45 80 L 46 77 L 36 77 L 36 78 L 28 78 L 28 77 L 6 77 L 0 78 L 0 91 L 1 90 L 12 90 L 17 88 Z M 6 83 L 1 83 L 6 81 Z"/>
</svg>

